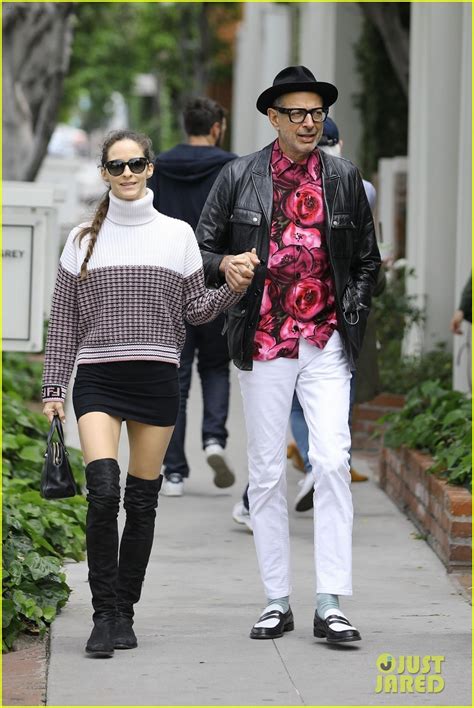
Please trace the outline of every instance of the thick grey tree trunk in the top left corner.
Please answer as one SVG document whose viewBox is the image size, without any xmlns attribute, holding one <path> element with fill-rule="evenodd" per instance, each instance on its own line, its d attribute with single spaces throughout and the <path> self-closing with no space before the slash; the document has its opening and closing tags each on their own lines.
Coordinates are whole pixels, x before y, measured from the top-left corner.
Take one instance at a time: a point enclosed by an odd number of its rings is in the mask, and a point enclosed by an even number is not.
<svg viewBox="0 0 474 708">
<path fill-rule="evenodd" d="M 3 176 L 32 181 L 56 126 L 74 3 L 4 3 Z"/>
</svg>

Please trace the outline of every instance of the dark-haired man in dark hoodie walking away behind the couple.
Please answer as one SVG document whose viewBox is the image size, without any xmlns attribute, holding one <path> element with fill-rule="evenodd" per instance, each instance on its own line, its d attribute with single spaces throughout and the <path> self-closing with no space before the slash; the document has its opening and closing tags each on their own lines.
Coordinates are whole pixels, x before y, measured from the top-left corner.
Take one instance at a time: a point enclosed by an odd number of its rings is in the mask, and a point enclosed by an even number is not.
<svg viewBox="0 0 474 708">
<path fill-rule="evenodd" d="M 186 143 L 158 155 L 150 180 L 153 204 L 167 216 L 187 221 L 196 228 L 207 195 L 223 165 L 236 155 L 220 146 L 226 131 L 224 108 L 210 98 L 193 98 L 183 113 Z M 234 481 L 224 454 L 229 409 L 229 351 L 222 336 L 224 315 L 204 325 L 186 324 L 186 342 L 179 368 L 180 408 L 173 437 L 165 459 L 162 494 L 181 496 L 184 479 L 189 476 L 184 444 L 186 406 L 191 387 L 194 357 L 201 378 L 203 397 L 202 446 L 214 472 L 217 487 L 230 487 Z"/>
</svg>

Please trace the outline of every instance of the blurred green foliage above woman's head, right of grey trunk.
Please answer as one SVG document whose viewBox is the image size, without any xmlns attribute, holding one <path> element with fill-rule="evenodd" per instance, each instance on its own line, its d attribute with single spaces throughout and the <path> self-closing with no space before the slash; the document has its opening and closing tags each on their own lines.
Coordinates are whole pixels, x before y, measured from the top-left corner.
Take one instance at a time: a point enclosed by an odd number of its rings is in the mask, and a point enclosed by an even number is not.
<svg viewBox="0 0 474 708">
<path fill-rule="evenodd" d="M 186 98 L 230 77 L 233 52 L 223 30 L 239 12 L 240 3 L 80 3 L 63 120 L 76 115 L 86 130 L 102 128 L 118 91 L 132 124 L 156 149 L 168 147 L 181 137 Z M 155 96 L 136 95 L 139 74 L 154 76 Z"/>
</svg>

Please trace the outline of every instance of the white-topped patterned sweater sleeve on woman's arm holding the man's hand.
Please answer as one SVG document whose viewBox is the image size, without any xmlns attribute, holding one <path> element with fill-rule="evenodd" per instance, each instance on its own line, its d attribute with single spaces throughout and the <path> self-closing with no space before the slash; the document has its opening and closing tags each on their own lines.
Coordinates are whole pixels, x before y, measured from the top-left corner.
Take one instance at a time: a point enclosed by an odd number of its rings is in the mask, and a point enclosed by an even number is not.
<svg viewBox="0 0 474 708">
<path fill-rule="evenodd" d="M 207 290 L 204 282 L 204 269 L 199 246 L 192 229 L 186 245 L 183 315 L 192 325 L 204 324 L 215 319 L 223 310 L 227 310 L 242 297 L 243 293 L 234 293 L 227 283 L 217 290 Z"/>
</svg>

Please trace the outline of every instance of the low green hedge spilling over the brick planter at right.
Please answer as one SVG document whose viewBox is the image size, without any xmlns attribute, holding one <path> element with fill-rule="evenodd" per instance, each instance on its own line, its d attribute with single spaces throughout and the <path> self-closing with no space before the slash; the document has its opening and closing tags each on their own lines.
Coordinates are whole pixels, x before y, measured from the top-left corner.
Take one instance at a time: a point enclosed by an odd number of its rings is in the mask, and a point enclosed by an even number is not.
<svg viewBox="0 0 474 708">
<path fill-rule="evenodd" d="M 405 406 L 381 421 L 388 423 L 384 443 L 411 447 L 433 456 L 430 471 L 472 492 L 472 401 L 464 393 L 425 381 L 407 396 Z"/>
</svg>

